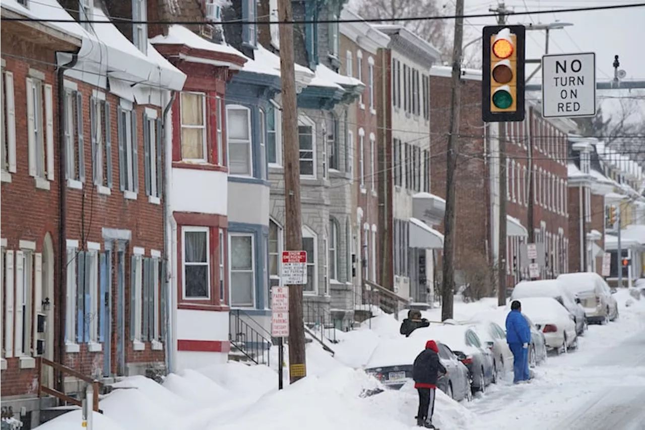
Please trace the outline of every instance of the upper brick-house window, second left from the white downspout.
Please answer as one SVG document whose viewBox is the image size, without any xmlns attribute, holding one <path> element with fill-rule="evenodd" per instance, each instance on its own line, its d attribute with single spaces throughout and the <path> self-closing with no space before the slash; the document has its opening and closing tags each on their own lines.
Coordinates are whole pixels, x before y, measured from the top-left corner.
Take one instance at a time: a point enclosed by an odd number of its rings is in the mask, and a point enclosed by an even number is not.
<svg viewBox="0 0 645 430">
<path fill-rule="evenodd" d="M 137 116 L 132 107 L 119 106 L 119 182 L 121 191 L 139 191 L 139 156 L 137 149 Z M 127 196 L 127 194 L 126 194 Z"/>
</svg>

